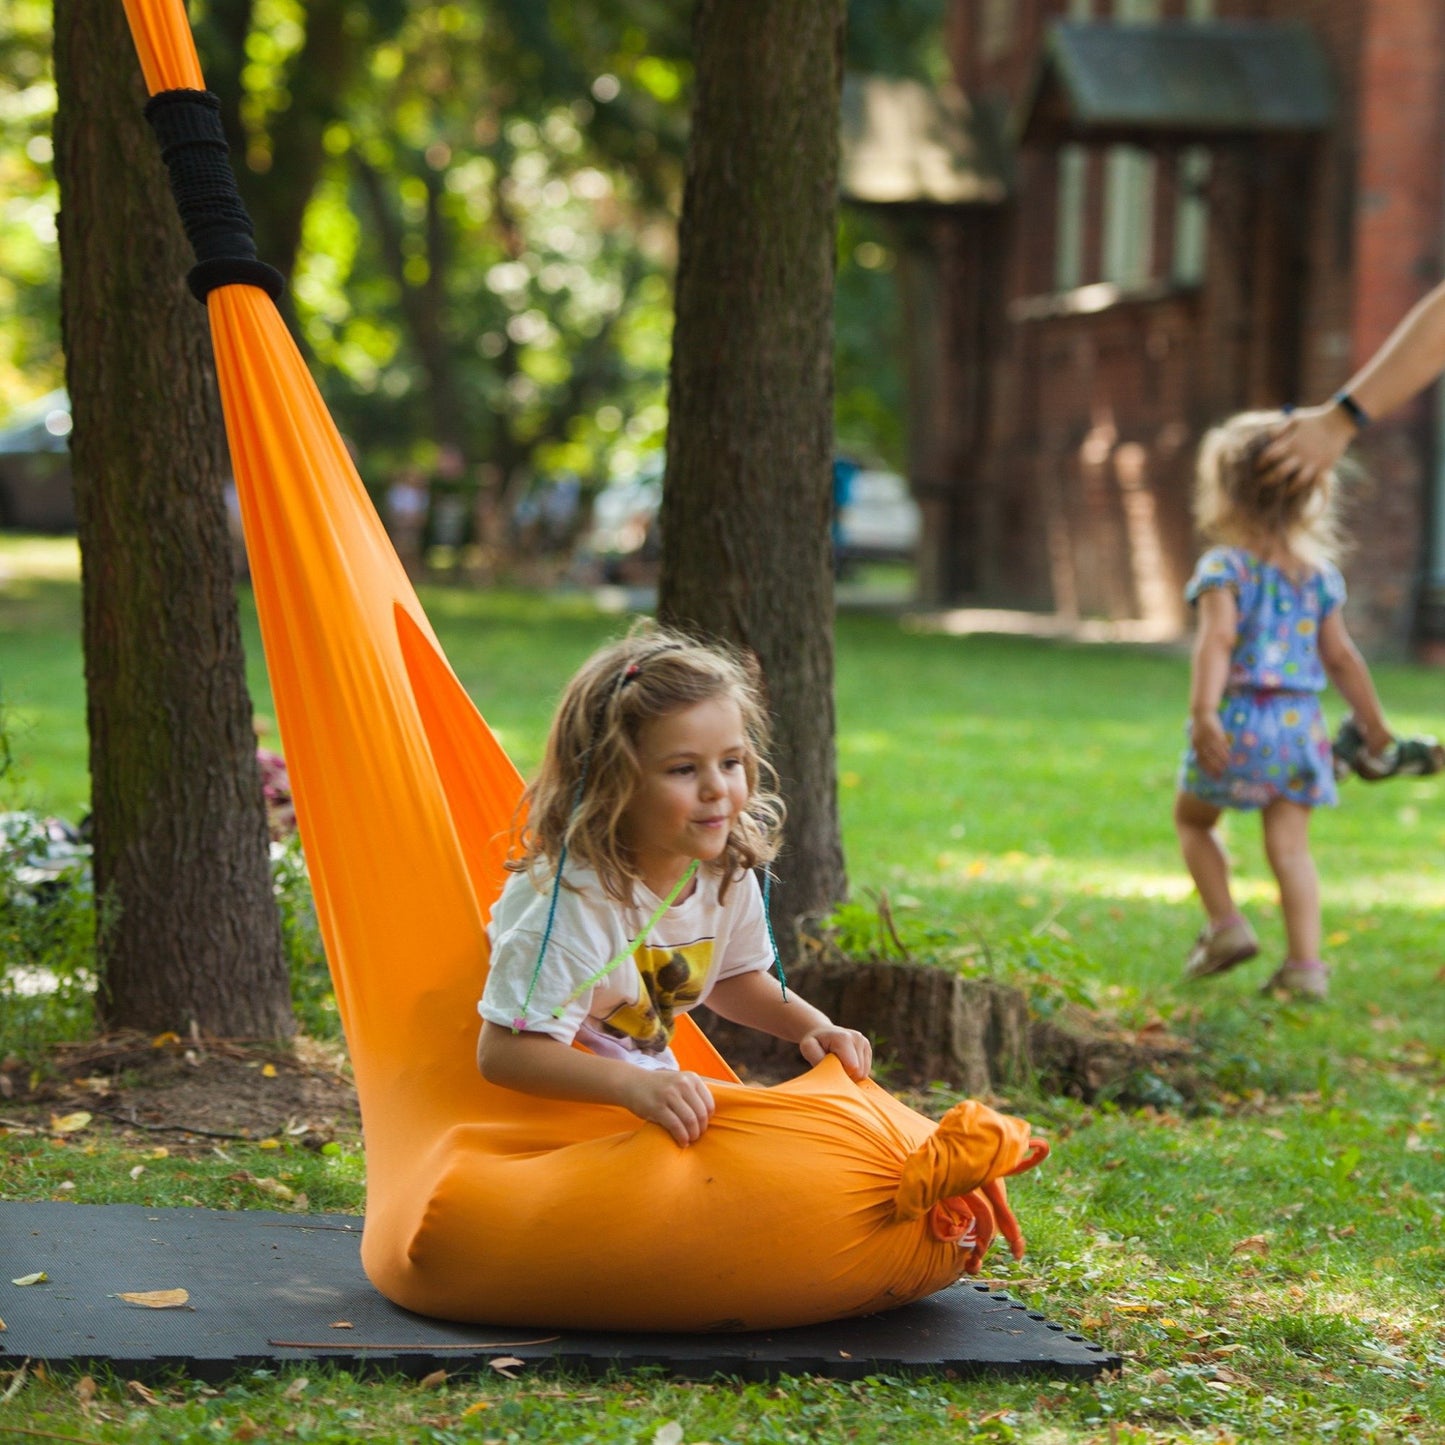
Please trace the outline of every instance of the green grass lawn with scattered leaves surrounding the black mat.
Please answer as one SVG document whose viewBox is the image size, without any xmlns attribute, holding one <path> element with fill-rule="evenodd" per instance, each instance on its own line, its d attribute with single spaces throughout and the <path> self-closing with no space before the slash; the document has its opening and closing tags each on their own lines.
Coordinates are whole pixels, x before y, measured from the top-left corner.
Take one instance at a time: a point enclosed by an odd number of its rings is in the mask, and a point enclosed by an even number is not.
<svg viewBox="0 0 1445 1445">
<path fill-rule="evenodd" d="M 84 699 L 78 590 L 62 553 L 52 548 L 52 575 L 36 575 L 29 545 L 0 539 L 0 704 L 26 799 L 74 816 Z M 621 621 L 574 598 L 432 590 L 425 601 L 526 772 L 562 682 Z M 243 618 L 264 715 L 249 598 Z M 886 890 L 912 936 L 987 939 L 1040 991 L 1130 1025 L 1163 1020 L 1208 1049 L 1204 1107 L 1085 1107 L 1030 1090 L 1007 1101 L 1055 1153 L 1013 1191 L 1029 1257 L 990 1269 L 1121 1351 L 1118 1379 L 496 1377 L 422 1389 L 290 1370 L 218 1392 L 178 1380 L 152 1405 L 124 1381 L 100 1381 L 87 1403 L 71 1377 L 30 1377 L 0 1403 L 0 1438 L 9 1425 L 146 1442 L 1445 1439 L 1445 783 L 1347 783 L 1342 806 L 1318 816 L 1335 970 L 1322 1007 L 1254 993 L 1282 932 L 1257 824 L 1235 819 L 1264 955 L 1186 988 L 1179 968 L 1198 915 L 1169 825 L 1186 675 L 1182 652 L 946 637 L 877 616 L 838 624 L 854 896 Z M 1439 673 L 1392 665 L 1377 682 L 1399 728 L 1445 728 Z M 0 1196 L 263 1205 L 236 1182 L 251 1173 L 289 1179 L 315 1209 L 360 1208 L 351 1143 L 321 1157 L 285 1143 L 228 1153 L 156 1159 L 142 1143 L 12 1136 L 0 1140 Z M 13 1381 L 0 1368 L 0 1396 Z M 681 1433 L 663 1431 L 670 1422 Z"/>
</svg>

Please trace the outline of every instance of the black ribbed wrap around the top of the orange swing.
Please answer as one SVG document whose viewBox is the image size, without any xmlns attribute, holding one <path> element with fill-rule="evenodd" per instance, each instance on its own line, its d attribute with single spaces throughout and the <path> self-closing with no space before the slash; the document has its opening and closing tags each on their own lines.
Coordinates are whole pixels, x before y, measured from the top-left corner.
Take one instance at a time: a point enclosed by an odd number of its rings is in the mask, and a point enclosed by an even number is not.
<svg viewBox="0 0 1445 1445">
<path fill-rule="evenodd" d="M 259 286 L 279 301 L 286 282 L 256 256 L 256 228 L 236 188 L 221 129 L 221 103 L 210 91 L 173 90 L 152 95 L 146 120 L 171 172 L 171 194 L 191 240 L 197 264 L 186 282 L 197 301 L 217 286 Z"/>
</svg>

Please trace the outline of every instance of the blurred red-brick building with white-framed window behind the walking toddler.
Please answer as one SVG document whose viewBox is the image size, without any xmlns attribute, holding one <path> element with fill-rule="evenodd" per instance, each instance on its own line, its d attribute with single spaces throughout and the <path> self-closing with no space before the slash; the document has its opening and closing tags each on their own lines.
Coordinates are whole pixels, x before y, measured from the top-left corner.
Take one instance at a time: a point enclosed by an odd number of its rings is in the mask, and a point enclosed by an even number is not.
<svg viewBox="0 0 1445 1445">
<path fill-rule="evenodd" d="M 957 0 L 1004 199 L 903 208 L 932 603 L 1186 626 L 1201 432 L 1328 396 L 1442 273 L 1439 0 Z M 1445 639 L 1433 394 L 1370 428 L 1351 626 Z"/>
</svg>

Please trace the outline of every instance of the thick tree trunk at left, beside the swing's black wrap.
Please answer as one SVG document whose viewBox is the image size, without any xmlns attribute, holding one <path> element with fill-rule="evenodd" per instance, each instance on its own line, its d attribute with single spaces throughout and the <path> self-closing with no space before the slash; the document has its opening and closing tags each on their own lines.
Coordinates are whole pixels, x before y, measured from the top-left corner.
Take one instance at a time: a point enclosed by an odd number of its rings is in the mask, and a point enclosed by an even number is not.
<svg viewBox="0 0 1445 1445">
<path fill-rule="evenodd" d="M 277 1038 L 293 1023 L 211 348 L 118 4 L 58 0 L 55 74 L 101 1014 Z"/>
</svg>

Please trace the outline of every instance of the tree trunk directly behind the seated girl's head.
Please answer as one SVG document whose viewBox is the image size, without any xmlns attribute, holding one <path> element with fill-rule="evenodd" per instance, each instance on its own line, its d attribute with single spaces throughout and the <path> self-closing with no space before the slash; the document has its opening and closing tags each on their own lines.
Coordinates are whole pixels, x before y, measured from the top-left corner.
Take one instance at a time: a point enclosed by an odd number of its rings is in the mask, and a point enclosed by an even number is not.
<svg viewBox="0 0 1445 1445">
<path fill-rule="evenodd" d="M 832 283 L 842 0 L 699 0 L 659 613 L 751 649 L 788 802 L 779 946 L 845 890 L 834 764 Z"/>
</svg>

